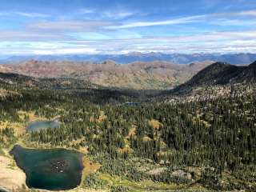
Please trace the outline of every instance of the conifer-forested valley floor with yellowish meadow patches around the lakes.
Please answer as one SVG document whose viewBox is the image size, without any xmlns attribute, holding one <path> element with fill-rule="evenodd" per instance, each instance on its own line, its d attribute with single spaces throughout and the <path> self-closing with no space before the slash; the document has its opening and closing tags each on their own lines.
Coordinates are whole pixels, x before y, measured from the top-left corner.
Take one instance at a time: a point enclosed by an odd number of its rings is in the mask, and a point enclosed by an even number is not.
<svg viewBox="0 0 256 192">
<path fill-rule="evenodd" d="M 169 102 L 152 93 L 148 98 L 145 92 L 44 87 L 46 80 L 38 81 L 2 82 L 5 93 L 15 93 L 0 100 L 2 149 L 19 142 L 84 151 L 100 166 L 83 178 L 82 188 L 256 190 L 254 86 L 243 94 L 239 88 Z M 31 115 L 58 118 L 61 126 L 26 132 Z"/>
</svg>

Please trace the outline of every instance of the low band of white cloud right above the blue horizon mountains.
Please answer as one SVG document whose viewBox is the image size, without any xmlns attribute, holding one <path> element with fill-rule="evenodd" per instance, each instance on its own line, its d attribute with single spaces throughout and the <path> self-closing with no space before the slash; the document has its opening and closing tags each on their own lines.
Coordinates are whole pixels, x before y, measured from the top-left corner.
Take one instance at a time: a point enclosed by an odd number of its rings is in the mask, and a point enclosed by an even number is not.
<svg viewBox="0 0 256 192">
<path fill-rule="evenodd" d="M 2 54 L 125 54 L 132 51 L 164 53 L 255 52 L 255 39 L 256 31 L 248 30 L 130 39 L 49 42 L 5 41 L 0 42 L 0 52 Z"/>
</svg>

